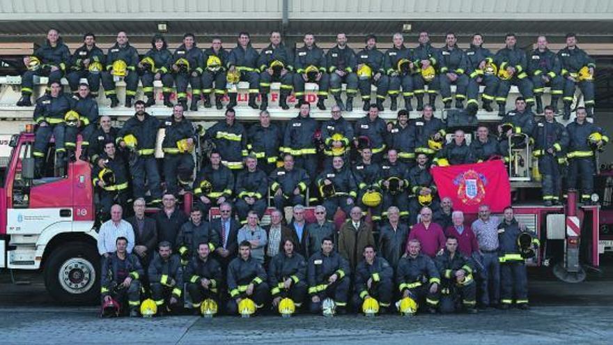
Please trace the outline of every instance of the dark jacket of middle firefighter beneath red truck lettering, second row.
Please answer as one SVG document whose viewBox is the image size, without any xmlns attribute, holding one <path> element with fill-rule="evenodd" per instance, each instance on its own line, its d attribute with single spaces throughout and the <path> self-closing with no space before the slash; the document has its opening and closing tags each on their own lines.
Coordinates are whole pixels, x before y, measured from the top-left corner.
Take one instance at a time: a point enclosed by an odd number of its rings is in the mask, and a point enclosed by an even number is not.
<svg viewBox="0 0 613 345">
<path fill-rule="evenodd" d="M 279 125 L 270 123 L 262 127 L 256 123 L 247 132 L 247 149 L 258 159 L 264 159 L 268 164 L 274 164 L 279 159 L 279 147 L 283 141 L 283 131 Z"/>
</svg>

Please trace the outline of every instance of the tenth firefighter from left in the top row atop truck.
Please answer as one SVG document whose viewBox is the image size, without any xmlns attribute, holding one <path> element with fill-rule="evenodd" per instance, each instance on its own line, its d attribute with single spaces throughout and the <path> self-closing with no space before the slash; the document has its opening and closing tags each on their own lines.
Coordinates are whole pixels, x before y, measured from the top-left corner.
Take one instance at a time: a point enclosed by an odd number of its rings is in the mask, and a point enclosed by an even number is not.
<svg viewBox="0 0 613 345">
<path fill-rule="evenodd" d="M 353 111 L 353 98 L 357 93 L 357 75 L 355 52 L 347 45 L 345 33 L 336 34 L 336 45 L 328 50 L 326 64 L 330 74 L 330 93 L 334 96 L 336 105 L 341 111 Z M 343 105 L 341 90 L 343 82 L 346 84 L 345 94 L 347 98 Z"/>
</svg>

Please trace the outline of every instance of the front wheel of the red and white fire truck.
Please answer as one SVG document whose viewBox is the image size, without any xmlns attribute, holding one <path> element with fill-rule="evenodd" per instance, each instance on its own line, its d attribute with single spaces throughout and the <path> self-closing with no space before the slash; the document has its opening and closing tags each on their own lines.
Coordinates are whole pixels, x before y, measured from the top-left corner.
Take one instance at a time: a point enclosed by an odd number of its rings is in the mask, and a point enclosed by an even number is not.
<svg viewBox="0 0 613 345">
<path fill-rule="evenodd" d="M 45 286 L 59 302 L 83 305 L 100 302 L 100 256 L 93 245 L 66 243 L 45 264 Z"/>
</svg>

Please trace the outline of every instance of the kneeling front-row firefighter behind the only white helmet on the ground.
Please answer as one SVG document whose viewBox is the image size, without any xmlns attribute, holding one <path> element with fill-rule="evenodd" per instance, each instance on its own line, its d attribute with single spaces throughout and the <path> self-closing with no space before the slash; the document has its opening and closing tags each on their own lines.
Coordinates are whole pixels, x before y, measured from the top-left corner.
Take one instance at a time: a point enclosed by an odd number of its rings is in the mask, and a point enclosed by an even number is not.
<svg viewBox="0 0 613 345">
<path fill-rule="evenodd" d="M 332 298 L 337 312 L 342 314 L 347 307 L 350 274 L 349 263 L 334 251 L 332 238 L 324 238 L 321 241 L 321 250 L 311 255 L 307 268 L 310 312 L 320 313 L 323 300 Z"/>
</svg>

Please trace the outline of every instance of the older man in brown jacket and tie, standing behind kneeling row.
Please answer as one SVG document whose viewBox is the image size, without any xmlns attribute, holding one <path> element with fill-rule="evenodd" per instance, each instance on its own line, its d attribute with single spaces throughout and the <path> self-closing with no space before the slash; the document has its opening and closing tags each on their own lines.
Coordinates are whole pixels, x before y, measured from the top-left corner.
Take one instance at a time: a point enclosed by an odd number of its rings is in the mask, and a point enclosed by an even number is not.
<svg viewBox="0 0 613 345">
<path fill-rule="evenodd" d="M 373 227 L 362 220 L 362 209 L 355 206 L 351 209 L 351 219 L 345 222 L 339 232 L 339 254 L 349 261 L 351 270 L 362 259 L 362 251 L 366 245 L 375 245 Z"/>
</svg>

